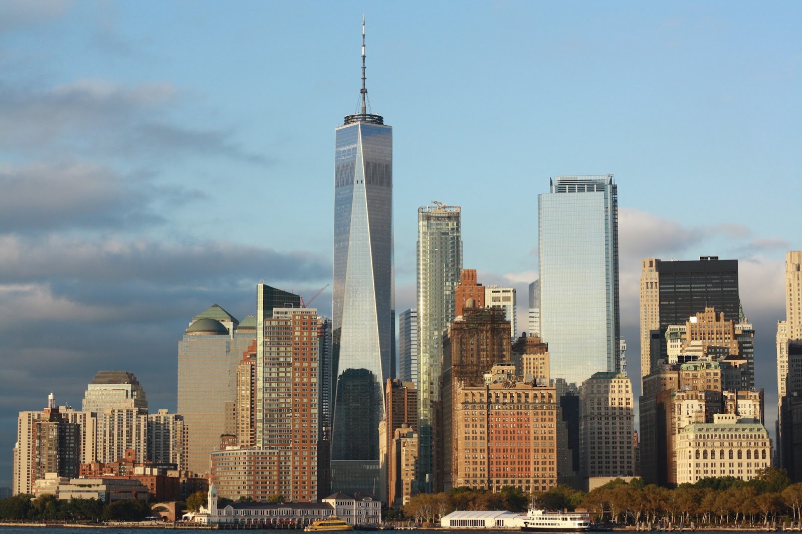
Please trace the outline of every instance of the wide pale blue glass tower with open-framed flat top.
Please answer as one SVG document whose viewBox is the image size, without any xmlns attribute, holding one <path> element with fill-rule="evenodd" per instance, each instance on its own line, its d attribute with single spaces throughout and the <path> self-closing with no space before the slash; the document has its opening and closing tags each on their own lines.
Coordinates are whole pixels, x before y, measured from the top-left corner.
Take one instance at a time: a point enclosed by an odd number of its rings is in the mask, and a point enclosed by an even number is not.
<svg viewBox="0 0 802 534">
<path fill-rule="evenodd" d="M 618 370 L 618 187 L 613 175 L 556 176 L 537 196 L 541 338 L 552 378 Z"/>
</svg>

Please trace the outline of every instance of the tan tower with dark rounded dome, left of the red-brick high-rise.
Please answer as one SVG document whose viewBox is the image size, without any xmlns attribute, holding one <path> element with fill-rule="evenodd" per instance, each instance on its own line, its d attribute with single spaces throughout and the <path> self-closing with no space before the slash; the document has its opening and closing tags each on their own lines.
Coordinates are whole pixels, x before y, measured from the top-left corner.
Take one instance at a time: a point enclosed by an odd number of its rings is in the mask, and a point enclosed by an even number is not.
<svg viewBox="0 0 802 534">
<path fill-rule="evenodd" d="M 209 471 L 220 436 L 236 435 L 237 365 L 255 337 L 253 327 L 238 332 L 239 324 L 212 305 L 192 318 L 178 343 L 177 411 L 184 416 L 189 471 Z"/>
</svg>

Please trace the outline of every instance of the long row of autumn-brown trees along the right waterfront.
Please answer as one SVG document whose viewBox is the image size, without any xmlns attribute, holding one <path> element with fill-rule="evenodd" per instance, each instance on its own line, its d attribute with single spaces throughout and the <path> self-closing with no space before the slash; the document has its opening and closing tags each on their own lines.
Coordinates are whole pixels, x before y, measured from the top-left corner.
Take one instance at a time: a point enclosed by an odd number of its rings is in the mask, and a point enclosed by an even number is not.
<svg viewBox="0 0 802 534">
<path fill-rule="evenodd" d="M 768 524 L 802 521 L 802 483 L 792 484 L 784 470 L 766 467 L 751 480 L 732 476 L 701 479 L 669 489 L 615 479 L 591 492 L 557 485 L 524 495 L 514 487 L 501 492 L 456 487 L 448 493 L 412 497 L 402 515 L 434 524 L 455 510 L 524 512 L 530 503 L 545 510 L 587 510 L 593 520 L 611 524 Z"/>
</svg>

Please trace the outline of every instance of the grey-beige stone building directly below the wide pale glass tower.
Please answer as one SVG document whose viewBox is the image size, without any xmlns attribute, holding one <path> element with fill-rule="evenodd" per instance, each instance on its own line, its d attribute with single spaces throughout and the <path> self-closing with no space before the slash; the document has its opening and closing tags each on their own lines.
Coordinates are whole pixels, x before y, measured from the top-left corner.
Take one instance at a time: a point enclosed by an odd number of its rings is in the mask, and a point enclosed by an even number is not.
<svg viewBox="0 0 802 534">
<path fill-rule="evenodd" d="M 626 374 L 599 372 L 579 388 L 579 473 L 634 476 L 634 399 Z"/>
</svg>

